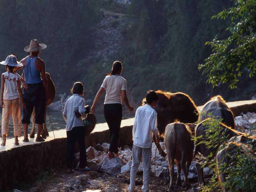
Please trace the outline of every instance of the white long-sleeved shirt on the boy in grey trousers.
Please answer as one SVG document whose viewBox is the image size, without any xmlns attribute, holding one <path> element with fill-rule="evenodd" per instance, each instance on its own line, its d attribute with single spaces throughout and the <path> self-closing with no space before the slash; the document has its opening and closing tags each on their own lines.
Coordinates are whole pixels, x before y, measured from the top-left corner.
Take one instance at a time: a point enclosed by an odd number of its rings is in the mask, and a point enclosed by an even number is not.
<svg viewBox="0 0 256 192">
<path fill-rule="evenodd" d="M 157 113 L 150 105 L 139 107 L 135 113 L 132 129 L 133 144 L 141 148 L 151 148 L 153 134 L 159 138 Z"/>
</svg>

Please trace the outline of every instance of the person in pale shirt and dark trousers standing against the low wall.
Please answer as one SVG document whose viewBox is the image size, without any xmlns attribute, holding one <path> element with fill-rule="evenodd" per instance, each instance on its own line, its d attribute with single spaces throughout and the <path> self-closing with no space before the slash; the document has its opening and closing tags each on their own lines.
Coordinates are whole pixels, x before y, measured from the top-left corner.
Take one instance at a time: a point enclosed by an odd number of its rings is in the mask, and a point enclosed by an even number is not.
<svg viewBox="0 0 256 192">
<path fill-rule="evenodd" d="M 63 111 L 63 118 L 67 123 L 67 173 L 73 172 L 72 161 L 76 140 L 80 148 L 79 171 L 89 171 L 85 151 L 85 127 L 82 120 L 86 117 L 85 100 L 81 97 L 84 95 L 84 85 L 81 82 L 76 82 L 71 89 L 71 93 L 73 95 L 67 100 Z M 81 116 L 76 117 L 75 111 L 78 111 Z"/>
</svg>

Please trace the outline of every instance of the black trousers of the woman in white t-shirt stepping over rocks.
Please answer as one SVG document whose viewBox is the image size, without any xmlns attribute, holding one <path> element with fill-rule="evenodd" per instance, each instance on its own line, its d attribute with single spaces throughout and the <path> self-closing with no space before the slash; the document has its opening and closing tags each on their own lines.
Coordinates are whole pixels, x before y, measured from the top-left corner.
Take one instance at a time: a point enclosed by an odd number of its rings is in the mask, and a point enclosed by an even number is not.
<svg viewBox="0 0 256 192">
<path fill-rule="evenodd" d="M 105 104 L 104 105 L 104 115 L 108 124 L 110 132 L 110 146 L 109 151 L 118 153 L 118 137 L 119 129 L 121 126 L 123 111 L 122 104 Z"/>
</svg>

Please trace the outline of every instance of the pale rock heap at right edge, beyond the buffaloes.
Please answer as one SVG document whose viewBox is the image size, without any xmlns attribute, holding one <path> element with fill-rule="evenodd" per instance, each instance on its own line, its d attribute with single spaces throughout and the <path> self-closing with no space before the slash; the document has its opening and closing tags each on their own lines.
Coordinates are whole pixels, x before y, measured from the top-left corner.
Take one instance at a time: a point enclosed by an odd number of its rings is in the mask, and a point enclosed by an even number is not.
<svg viewBox="0 0 256 192">
<path fill-rule="evenodd" d="M 238 131 L 256 136 L 256 114 L 247 112 L 235 117 L 235 124 Z"/>
</svg>

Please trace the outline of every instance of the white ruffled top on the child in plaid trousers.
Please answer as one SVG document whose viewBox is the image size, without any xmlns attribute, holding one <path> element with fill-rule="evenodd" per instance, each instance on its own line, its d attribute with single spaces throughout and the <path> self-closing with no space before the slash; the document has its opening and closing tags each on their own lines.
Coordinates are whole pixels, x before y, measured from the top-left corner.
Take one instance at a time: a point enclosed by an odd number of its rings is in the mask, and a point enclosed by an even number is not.
<svg viewBox="0 0 256 192">
<path fill-rule="evenodd" d="M 5 72 L 4 76 L 4 100 L 13 100 L 19 98 L 19 92 L 17 88 L 17 81 L 20 81 L 18 74 Z"/>
</svg>

